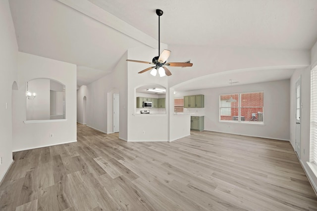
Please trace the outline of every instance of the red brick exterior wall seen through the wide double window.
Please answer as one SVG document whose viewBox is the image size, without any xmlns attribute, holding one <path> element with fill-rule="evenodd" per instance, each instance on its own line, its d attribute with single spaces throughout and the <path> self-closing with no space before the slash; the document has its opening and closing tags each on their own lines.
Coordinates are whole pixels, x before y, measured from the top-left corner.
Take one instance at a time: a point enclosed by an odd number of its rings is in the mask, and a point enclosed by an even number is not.
<svg viewBox="0 0 317 211">
<path fill-rule="evenodd" d="M 228 100 L 232 96 L 237 102 L 231 103 L 231 115 L 221 115 L 220 120 L 237 120 L 239 115 L 239 94 L 220 95 L 220 100 Z M 263 92 L 241 94 L 241 121 L 263 122 Z M 250 108 L 251 107 L 251 108 Z"/>
</svg>

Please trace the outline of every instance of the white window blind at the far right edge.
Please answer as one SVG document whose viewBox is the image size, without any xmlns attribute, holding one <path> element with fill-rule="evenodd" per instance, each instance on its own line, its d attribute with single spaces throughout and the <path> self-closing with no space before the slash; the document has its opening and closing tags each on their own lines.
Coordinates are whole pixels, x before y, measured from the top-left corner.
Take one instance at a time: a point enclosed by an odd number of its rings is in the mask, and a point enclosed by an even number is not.
<svg viewBox="0 0 317 211">
<path fill-rule="evenodd" d="M 317 67 L 311 71 L 310 162 L 317 164 Z"/>
</svg>

